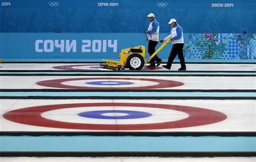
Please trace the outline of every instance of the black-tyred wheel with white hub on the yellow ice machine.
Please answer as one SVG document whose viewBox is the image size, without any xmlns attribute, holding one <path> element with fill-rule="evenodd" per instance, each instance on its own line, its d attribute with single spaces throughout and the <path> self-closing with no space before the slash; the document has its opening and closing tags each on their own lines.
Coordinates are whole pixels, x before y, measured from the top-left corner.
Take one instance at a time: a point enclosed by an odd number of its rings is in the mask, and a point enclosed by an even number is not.
<svg viewBox="0 0 256 162">
<path fill-rule="evenodd" d="M 142 55 L 138 53 L 133 53 L 127 58 L 126 65 L 130 70 L 139 71 L 144 66 L 144 59 Z"/>
</svg>

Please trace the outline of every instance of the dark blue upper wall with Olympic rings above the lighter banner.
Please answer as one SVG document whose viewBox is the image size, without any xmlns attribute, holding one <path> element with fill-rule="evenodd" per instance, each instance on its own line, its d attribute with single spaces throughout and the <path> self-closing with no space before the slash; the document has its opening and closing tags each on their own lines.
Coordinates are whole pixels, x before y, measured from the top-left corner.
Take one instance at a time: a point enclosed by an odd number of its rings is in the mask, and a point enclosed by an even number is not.
<svg viewBox="0 0 256 162">
<path fill-rule="evenodd" d="M 170 18 L 176 18 L 186 33 L 256 33 L 254 0 L 59 0 L 56 6 L 44 0 L 8 2 L 0 5 L 0 32 L 140 33 L 153 12 L 163 33 L 169 31 Z M 223 7 L 213 7 L 218 5 Z"/>
</svg>

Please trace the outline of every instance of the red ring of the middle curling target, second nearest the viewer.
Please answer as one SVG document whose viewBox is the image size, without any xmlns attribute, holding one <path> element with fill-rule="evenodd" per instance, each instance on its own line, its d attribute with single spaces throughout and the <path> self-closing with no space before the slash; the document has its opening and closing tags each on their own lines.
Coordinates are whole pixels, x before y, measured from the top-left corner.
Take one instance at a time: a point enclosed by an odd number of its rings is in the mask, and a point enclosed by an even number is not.
<svg viewBox="0 0 256 162">
<path fill-rule="evenodd" d="M 138 87 L 79 87 L 79 86 L 68 86 L 62 84 L 62 82 L 74 81 L 74 80 L 143 80 L 143 81 L 152 81 L 158 82 L 159 84 L 154 86 L 138 86 Z M 54 87 L 54 88 L 70 88 L 70 89 L 156 89 L 156 88 L 170 88 L 182 86 L 184 83 L 171 81 L 171 80 L 161 80 L 161 79 L 145 79 L 145 78 L 70 78 L 70 79 L 54 79 L 54 80 L 45 80 L 36 83 L 39 86 L 44 87 Z"/>
</svg>

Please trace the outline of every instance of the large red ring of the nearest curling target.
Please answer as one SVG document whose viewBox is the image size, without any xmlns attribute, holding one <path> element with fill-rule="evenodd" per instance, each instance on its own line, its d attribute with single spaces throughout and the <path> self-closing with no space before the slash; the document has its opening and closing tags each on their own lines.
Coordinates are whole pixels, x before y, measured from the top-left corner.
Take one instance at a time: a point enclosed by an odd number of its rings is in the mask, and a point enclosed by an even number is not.
<svg viewBox="0 0 256 162">
<path fill-rule="evenodd" d="M 149 124 L 83 124 L 83 123 L 69 123 L 53 121 L 41 116 L 43 112 L 78 107 L 146 107 L 146 108 L 160 108 L 177 110 L 187 113 L 189 116 L 185 119 L 172 122 L 163 123 L 149 123 Z M 9 121 L 44 126 L 50 128 L 62 129 L 82 129 L 82 130 L 152 130 L 152 129 L 173 129 L 185 128 L 190 126 L 200 126 L 213 124 L 224 121 L 227 116 L 219 111 L 187 107 L 183 105 L 168 105 L 168 104 L 146 104 L 146 103 L 71 103 L 71 104 L 55 104 L 42 105 L 38 107 L 29 107 L 18 110 L 6 112 L 3 117 Z"/>
</svg>

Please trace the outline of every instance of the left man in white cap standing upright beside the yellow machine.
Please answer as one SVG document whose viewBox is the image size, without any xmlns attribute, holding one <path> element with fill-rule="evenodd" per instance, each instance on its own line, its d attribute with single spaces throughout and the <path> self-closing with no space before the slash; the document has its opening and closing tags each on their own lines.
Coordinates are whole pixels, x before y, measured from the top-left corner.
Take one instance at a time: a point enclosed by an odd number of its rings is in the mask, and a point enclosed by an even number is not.
<svg viewBox="0 0 256 162">
<path fill-rule="evenodd" d="M 149 46 L 148 46 L 148 52 L 150 56 L 156 51 L 156 46 L 158 43 L 159 39 L 159 23 L 158 21 L 154 18 L 154 14 L 150 13 L 147 15 L 147 18 L 149 19 L 149 28 L 147 29 L 147 41 L 149 41 Z M 162 62 L 160 58 L 158 58 L 157 55 L 155 55 L 151 60 L 150 60 L 150 65 L 147 66 L 149 68 L 156 68 L 156 63 L 157 61 L 157 66 L 159 66 Z"/>
</svg>

